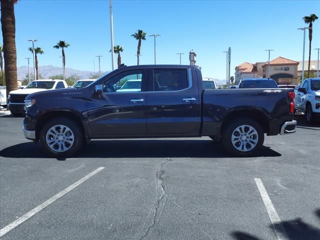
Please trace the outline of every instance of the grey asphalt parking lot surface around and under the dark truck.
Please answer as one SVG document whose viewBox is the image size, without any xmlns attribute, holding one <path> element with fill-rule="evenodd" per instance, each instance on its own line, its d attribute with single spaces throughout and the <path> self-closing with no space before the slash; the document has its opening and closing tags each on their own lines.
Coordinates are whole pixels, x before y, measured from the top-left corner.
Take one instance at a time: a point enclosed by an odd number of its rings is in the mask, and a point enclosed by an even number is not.
<svg viewBox="0 0 320 240">
<path fill-rule="evenodd" d="M 208 137 L 48 158 L 22 119 L 0 116 L 1 239 L 320 239 L 320 126 L 302 116 L 249 158 Z"/>
</svg>

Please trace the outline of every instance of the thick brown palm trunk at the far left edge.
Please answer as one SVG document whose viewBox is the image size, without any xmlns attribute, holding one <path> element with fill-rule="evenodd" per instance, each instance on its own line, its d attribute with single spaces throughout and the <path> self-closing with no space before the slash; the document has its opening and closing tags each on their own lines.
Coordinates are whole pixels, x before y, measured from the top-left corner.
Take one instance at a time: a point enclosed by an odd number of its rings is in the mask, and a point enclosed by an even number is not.
<svg viewBox="0 0 320 240">
<path fill-rule="evenodd" d="M 17 0 L 1 0 L 1 27 L 3 36 L 4 72 L 6 95 L 18 88 L 16 73 L 14 3 Z"/>
</svg>

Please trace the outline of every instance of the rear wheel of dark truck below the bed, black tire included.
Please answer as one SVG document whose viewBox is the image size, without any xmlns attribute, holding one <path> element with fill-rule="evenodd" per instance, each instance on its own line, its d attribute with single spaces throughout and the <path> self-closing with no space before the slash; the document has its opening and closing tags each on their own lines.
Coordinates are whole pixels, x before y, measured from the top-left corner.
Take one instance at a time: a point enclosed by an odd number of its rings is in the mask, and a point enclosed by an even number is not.
<svg viewBox="0 0 320 240">
<path fill-rule="evenodd" d="M 237 131 L 236 129 L 238 129 L 238 127 L 241 125 L 251 126 L 252 128 L 254 128 L 256 133 L 250 136 L 250 134 L 247 134 L 247 133 L 250 133 L 250 131 L 245 133 L 245 131 L 249 129 L 249 127 L 245 127 L 244 132 L 242 134 L 243 136 L 239 135 L 238 138 L 232 138 L 233 132 L 239 133 L 239 131 Z M 234 140 L 239 139 L 237 142 L 234 143 L 237 147 L 233 145 L 232 139 Z M 251 156 L 256 154 L 261 149 L 263 145 L 263 141 L 264 141 L 264 133 L 263 133 L 262 127 L 256 121 L 250 118 L 235 119 L 233 122 L 229 123 L 229 125 L 222 132 L 222 144 L 224 148 L 228 152 L 236 156 Z M 247 150 L 245 150 L 244 147 Z"/>
</svg>

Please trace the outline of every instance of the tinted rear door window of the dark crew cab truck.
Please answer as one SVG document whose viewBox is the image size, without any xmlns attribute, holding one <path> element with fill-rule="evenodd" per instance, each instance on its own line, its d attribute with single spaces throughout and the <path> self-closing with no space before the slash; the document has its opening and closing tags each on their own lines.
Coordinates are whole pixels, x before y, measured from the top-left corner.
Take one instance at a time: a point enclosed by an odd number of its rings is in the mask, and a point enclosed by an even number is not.
<svg viewBox="0 0 320 240">
<path fill-rule="evenodd" d="M 176 91 L 188 86 L 186 69 L 153 69 L 153 91 Z"/>
</svg>

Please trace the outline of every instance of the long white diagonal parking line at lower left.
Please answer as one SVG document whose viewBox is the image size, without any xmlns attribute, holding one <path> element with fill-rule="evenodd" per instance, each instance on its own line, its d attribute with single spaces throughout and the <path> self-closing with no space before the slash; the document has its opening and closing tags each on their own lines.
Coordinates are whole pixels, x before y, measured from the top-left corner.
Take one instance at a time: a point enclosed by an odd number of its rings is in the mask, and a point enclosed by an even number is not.
<svg viewBox="0 0 320 240">
<path fill-rule="evenodd" d="M 68 193 L 70 190 L 72 190 L 74 187 L 80 185 L 82 182 L 84 182 L 85 180 L 89 179 L 91 176 L 93 176 L 94 174 L 96 174 L 97 172 L 99 172 L 100 170 L 102 170 L 104 168 L 104 166 L 98 167 L 96 168 L 94 171 L 91 171 L 89 174 L 87 174 L 86 176 L 82 177 L 80 180 L 74 182 L 72 185 L 68 186 L 67 188 L 65 188 L 64 190 L 60 191 L 59 193 L 57 193 L 56 195 L 52 196 L 51 198 L 49 198 L 48 200 L 46 200 L 45 202 L 41 203 L 40 205 L 38 205 L 37 207 L 33 208 L 32 210 L 30 210 L 29 212 L 25 213 L 23 216 L 19 217 L 18 219 L 16 219 L 15 221 L 11 222 L 10 224 L 6 225 L 5 227 L 3 227 L 0 230 L 0 237 L 3 236 L 5 233 L 7 233 L 8 231 L 12 230 L 14 227 L 18 226 L 19 224 L 21 224 L 22 222 L 24 222 L 25 220 L 29 219 L 31 216 L 33 216 L 35 213 L 37 213 L 38 211 L 42 210 L 44 207 L 50 205 L 52 202 L 54 202 L 55 200 L 59 199 L 61 196 L 63 196 L 64 194 Z"/>
</svg>

